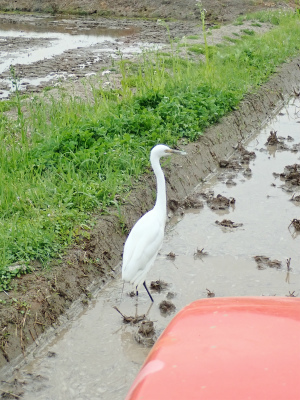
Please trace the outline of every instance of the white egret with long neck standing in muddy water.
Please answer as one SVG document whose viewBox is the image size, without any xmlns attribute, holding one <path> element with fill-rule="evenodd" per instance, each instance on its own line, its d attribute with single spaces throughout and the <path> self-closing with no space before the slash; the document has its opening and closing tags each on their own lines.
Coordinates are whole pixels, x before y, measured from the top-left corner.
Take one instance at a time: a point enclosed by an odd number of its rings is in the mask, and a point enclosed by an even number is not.
<svg viewBox="0 0 300 400">
<path fill-rule="evenodd" d="M 180 150 L 159 144 L 150 153 L 150 162 L 156 176 L 156 203 L 152 210 L 143 215 L 133 226 L 124 246 L 122 279 L 136 287 L 143 284 L 151 301 L 153 298 L 146 285 L 146 275 L 161 248 L 167 218 L 166 182 L 160 166 L 160 158 L 172 153 L 185 155 Z"/>
</svg>

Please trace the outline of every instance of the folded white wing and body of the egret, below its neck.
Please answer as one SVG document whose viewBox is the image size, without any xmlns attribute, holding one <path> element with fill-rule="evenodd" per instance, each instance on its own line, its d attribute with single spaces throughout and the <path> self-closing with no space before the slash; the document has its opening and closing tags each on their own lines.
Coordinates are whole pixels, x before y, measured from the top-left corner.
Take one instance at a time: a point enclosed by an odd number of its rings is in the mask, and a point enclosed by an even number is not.
<svg viewBox="0 0 300 400">
<path fill-rule="evenodd" d="M 142 282 L 161 247 L 164 228 L 164 219 L 153 210 L 137 221 L 124 246 L 123 280 L 136 285 Z"/>
</svg>

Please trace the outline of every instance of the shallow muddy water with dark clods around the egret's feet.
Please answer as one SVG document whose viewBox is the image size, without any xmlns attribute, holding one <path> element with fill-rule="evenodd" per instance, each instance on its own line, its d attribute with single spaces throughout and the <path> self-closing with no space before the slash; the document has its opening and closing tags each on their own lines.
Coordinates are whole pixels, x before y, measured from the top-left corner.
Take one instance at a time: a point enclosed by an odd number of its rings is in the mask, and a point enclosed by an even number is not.
<svg viewBox="0 0 300 400">
<path fill-rule="evenodd" d="M 88 309 L 16 372 L 26 382 L 24 399 L 124 399 L 149 349 L 136 342 L 137 327 L 123 324 L 113 306 L 127 316 L 147 313 L 158 335 L 174 315 L 159 311 L 159 303 L 167 296 L 179 311 L 207 297 L 208 290 L 215 296 L 300 294 L 300 234 L 289 228 L 291 220 L 300 218 L 300 206 L 290 201 L 294 192 L 283 188 L 284 181 L 273 175 L 283 172 L 286 165 L 300 163 L 300 152 L 290 151 L 300 142 L 299 122 L 300 101 L 293 100 L 247 144 L 256 153 L 249 165 L 251 176 L 245 177 L 243 171 L 227 171 L 224 176 L 220 170 L 196 188 L 234 197 L 236 202 L 228 210 L 212 211 L 205 203 L 184 216 L 173 216 L 147 278 L 148 282 L 162 279 L 169 287 L 152 292 L 152 305 L 144 290 L 137 301 L 127 295 L 129 286 L 123 290 L 120 279 L 108 284 Z M 294 141 L 284 141 L 289 149 L 266 146 L 270 130 L 292 137 Z M 228 173 L 236 185 L 226 184 Z M 243 225 L 223 228 L 215 223 L 224 218 Z M 196 256 L 197 248 L 208 254 Z M 175 259 L 166 257 L 170 252 Z M 253 259 L 257 255 L 277 259 L 282 266 L 258 268 Z"/>
</svg>

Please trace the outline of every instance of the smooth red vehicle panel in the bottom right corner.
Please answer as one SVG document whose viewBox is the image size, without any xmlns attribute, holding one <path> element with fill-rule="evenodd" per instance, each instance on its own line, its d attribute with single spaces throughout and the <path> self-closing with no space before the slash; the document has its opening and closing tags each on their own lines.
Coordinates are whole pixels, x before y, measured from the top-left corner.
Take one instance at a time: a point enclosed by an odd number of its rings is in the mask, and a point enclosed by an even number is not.
<svg viewBox="0 0 300 400">
<path fill-rule="evenodd" d="M 300 399 L 300 299 L 202 299 L 181 310 L 126 400 L 190 399 Z"/>
</svg>

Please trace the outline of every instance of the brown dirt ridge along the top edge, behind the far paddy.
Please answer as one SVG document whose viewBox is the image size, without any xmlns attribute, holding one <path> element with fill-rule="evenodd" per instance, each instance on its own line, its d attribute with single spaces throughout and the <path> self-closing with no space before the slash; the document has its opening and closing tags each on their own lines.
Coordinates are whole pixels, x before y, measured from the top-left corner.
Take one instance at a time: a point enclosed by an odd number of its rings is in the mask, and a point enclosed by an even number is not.
<svg viewBox="0 0 300 400">
<path fill-rule="evenodd" d="M 274 2 L 250 2 L 249 0 L 202 0 L 207 18 L 214 21 L 231 21 L 239 14 L 256 9 L 269 9 Z M 282 6 L 282 5 L 280 5 Z M 75 14 L 114 17 L 165 18 L 195 20 L 200 11 L 195 0 L 0 0 L 0 10 L 25 12 L 72 12 Z"/>
</svg>

